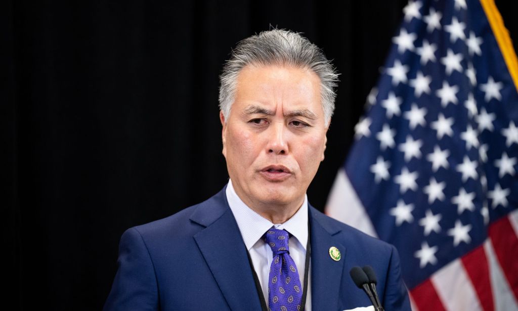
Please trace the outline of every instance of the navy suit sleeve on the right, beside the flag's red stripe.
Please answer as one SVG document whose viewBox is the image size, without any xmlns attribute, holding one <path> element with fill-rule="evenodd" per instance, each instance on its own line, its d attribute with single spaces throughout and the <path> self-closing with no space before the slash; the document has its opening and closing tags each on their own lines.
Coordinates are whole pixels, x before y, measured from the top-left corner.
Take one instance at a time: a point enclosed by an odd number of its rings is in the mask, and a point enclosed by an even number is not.
<svg viewBox="0 0 518 311">
<path fill-rule="evenodd" d="M 410 311 L 410 299 L 405 284 L 401 279 L 401 266 L 397 249 L 391 245 L 392 256 L 387 271 L 387 282 L 385 287 L 384 302 L 385 311 Z"/>
</svg>

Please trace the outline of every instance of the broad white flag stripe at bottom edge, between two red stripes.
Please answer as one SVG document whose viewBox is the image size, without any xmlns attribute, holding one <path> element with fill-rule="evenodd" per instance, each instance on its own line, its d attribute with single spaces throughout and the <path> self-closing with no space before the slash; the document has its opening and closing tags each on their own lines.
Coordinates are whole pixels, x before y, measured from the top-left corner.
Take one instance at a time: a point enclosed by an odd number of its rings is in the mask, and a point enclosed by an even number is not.
<svg viewBox="0 0 518 311">
<path fill-rule="evenodd" d="M 477 297 L 461 260 L 457 259 L 431 276 L 437 294 L 447 310 L 481 310 Z"/>
</svg>

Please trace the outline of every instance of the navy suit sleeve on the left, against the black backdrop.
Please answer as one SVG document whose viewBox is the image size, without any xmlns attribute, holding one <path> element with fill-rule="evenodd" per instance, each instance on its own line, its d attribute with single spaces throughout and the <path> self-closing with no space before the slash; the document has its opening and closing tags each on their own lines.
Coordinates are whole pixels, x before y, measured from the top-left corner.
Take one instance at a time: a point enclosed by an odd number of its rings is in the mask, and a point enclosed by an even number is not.
<svg viewBox="0 0 518 311">
<path fill-rule="evenodd" d="M 119 268 L 103 310 L 158 310 L 153 263 L 137 229 L 122 234 L 117 262 Z"/>
</svg>

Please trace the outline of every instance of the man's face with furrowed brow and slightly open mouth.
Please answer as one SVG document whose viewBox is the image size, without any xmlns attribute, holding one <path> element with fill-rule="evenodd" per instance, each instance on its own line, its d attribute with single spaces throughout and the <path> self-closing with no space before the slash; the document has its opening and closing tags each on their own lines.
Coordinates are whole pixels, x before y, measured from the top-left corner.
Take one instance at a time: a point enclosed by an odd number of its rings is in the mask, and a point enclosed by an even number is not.
<svg viewBox="0 0 518 311">
<path fill-rule="evenodd" d="M 239 197 L 250 206 L 298 208 L 324 159 L 320 80 L 310 70 L 247 66 L 223 125 L 223 155 Z"/>
</svg>

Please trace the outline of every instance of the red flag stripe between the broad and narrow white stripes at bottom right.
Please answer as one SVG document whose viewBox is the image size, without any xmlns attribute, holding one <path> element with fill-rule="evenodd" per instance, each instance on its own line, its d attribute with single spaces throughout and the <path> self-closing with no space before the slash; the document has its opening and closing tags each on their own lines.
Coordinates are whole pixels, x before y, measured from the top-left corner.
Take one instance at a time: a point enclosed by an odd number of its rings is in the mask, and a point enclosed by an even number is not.
<svg viewBox="0 0 518 311">
<path fill-rule="evenodd" d="M 489 263 L 485 256 L 484 246 L 481 245 L 462 257 L 464 270 L 471 279 L 473 288 L 477 292 L 482 309 L 493 311 L 493 291 L 491 290 L 491 278 L 489 275 Z"/>
</svg>

